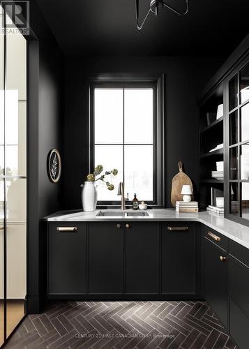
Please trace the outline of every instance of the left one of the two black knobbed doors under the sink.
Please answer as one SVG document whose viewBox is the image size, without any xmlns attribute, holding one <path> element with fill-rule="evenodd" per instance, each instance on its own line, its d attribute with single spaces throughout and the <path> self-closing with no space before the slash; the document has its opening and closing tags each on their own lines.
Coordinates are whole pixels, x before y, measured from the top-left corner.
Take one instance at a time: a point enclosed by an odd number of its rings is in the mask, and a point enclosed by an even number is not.
<svg viewBox="0 0 249 349">
<path fill-rule="evenodd" d="M 89 223 L 89 293 L 123 293 L 122 223 Z"/>
</svg>

